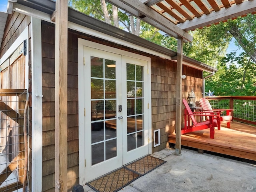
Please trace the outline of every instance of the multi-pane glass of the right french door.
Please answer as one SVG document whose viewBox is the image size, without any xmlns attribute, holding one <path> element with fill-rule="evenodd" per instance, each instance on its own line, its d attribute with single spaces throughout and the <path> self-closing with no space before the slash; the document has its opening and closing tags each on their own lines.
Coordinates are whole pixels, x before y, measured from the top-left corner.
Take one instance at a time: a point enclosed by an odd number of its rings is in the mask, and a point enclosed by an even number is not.
<svg viewBox="0 0 256 192">
<path fill-rule="evenodd" d="M 144 67 L 126 64 L 127 150 L 144 146 Z"/>
</svg>

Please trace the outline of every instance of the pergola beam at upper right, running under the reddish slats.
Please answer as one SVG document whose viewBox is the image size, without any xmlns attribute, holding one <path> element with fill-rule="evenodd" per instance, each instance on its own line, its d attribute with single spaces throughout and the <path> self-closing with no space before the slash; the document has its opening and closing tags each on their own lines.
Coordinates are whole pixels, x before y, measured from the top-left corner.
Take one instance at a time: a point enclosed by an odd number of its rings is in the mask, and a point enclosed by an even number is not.
<svg viewBox="0 0 256 192">
<path fill-rule="evenodd" d="M 208 15 L 204 15 L 200 18 L 194 18 L 190 21 L 177 24 L 182 30 L 189 31 L 196 28 L 208 26 L 210 24 L 215 24 L 230 18 L 235 18 L 241 15 L 249 14 L 255 12 L 256 1 L 247 1 L 241 4 L 231 6 L 230 8 L 222 9 L 217 12 L 212 12 Z"/>
</svg>

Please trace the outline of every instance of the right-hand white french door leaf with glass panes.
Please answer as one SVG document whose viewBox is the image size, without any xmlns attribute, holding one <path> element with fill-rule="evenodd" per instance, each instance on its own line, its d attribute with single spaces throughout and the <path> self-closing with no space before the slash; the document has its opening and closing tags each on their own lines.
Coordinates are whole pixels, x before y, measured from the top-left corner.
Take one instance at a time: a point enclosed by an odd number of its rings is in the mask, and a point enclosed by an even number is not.
<svg viewBox="0 0 256 192">
<path fill-rule="evenodd" d="M 147 62 L 122 56 L 123 164 L 148 154 Z"/>
</svg>

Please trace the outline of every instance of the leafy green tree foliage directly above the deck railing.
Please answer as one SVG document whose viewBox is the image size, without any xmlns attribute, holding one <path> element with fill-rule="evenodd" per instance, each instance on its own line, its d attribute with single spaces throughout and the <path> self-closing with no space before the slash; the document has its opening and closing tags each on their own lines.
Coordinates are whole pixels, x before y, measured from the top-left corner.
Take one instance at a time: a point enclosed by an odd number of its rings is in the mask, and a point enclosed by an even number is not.
<svg viewBox="0 0 256 192">
<path fill-rule="evenodd" d="M 216 96 L 256 95 L 256 65 L 245 52 L 227 54 L 218 65 L 218 72 L 206 80 L 206 91 L 214 91 Z"/>
</svg>

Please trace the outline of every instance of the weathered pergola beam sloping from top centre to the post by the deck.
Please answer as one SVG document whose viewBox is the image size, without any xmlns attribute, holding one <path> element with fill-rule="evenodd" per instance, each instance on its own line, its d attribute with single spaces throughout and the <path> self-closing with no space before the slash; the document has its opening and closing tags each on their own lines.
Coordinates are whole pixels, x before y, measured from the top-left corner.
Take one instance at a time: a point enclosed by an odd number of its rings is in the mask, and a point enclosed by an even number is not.
<svg viewBox="0 0 256 192">
<path fill-rule="evenodd" d="M 129 12 L 130 14 L 144 20 L 152 26 L 166 32 L 170 36 L 178 38 L 178 36 L 184 38 L 184 40 L 192 41 L 193 37 L 181 30 L 174 23 L 170 22 L 167 18 L 154 11 L 152 8 L 146 6 L 140 0 L 107 0 L 111 4 L 121 8 L 122 10 Z M 146 17 L 140 17 L 142 15 Z"/>
</svg>

